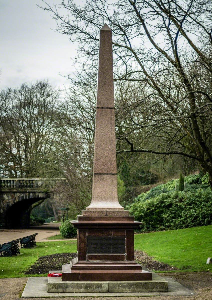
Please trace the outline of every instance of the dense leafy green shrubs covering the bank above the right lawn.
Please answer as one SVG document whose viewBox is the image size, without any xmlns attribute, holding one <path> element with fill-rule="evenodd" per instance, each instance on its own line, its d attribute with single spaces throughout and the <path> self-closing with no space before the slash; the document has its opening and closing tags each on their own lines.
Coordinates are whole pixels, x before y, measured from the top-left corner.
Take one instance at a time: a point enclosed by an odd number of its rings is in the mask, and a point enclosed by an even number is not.
<svg viewBox="0 0 212 300">
<path fill-rule="evenodd" d="M 135 199 L 128 209 L 137 221 L 143 223 L 140 231 L 181 229 L 212 224 L 212 193 L 207 185 L 207 177 L 201 177 L 199 174 L 192 175 L 185 177 L 185 181 L 187 187 L 184 191 L 175 190 L 175 184 L 179 182 L 177 179 L 160 184 Z"/>
</svg>

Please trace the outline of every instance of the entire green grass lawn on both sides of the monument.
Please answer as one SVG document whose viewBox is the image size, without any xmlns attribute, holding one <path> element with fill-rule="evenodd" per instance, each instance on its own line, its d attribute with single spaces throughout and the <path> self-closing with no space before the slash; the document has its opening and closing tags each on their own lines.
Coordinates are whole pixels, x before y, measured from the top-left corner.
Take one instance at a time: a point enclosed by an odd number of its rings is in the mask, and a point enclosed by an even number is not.
<svg viewBox="0 0 212 300">
<path fill-rule="evenodd" d="M 156 260 L 181 271 L 212 271 L 212 265 L 206 265 L 207 258 L 212 256 L 211 231 L 212 226 L 202 226 L 136 234 L 135 249 L 145 251 Z M 37 247 L 20 249 L 20 252 L 23 254 L 0 257 L 0 278 L 32 276 L 23 274 L 23 270 L 38 257 L 76 252 L 76 240 L 40 242 Z"/>
</svg>

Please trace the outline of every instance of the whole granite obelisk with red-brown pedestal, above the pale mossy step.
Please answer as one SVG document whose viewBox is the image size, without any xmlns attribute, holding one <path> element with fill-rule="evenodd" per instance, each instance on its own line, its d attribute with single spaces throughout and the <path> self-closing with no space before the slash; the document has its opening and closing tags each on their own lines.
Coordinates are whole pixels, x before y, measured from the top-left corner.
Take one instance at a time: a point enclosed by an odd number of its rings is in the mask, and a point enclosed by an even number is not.
<svg viewBox="0 0 212 300">
<path fill-rule="evenodd" d="M 62 266 L 63 281 L 151 280 L 134 261 L 134 229 L 140 222 L 118 202 L 112 31 L 100 30 L 92 199 L 72 222 L 77 258 Z"/>
</svg>

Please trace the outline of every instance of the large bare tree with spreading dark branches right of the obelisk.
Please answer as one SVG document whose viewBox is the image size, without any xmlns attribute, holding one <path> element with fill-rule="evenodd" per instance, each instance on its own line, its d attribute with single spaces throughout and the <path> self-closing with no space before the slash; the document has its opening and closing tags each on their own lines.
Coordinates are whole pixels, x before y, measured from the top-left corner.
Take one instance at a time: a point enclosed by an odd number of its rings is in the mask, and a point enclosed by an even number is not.
<svg viewBox="0 0 212 300">
<path fill-rule="evenodd" d="M 99 31 L 104 22 L 112 28 L 115 80 L 137 82 L 143 91 L 141 109 L 128 114 L 131 125 L 137 124 L 140 137 L 153 128 L 151 139 L 162 129 L 154 146 L 145 148 L 126 129 L 118 152 L 191 158 L 209 173 L 212 187 L 211 0 L 43 3 L 56 31 L 79 43 L 78 73 L 97 69 Z M 149 109 L 143 115 L 142 104 Z"/>
</svg>

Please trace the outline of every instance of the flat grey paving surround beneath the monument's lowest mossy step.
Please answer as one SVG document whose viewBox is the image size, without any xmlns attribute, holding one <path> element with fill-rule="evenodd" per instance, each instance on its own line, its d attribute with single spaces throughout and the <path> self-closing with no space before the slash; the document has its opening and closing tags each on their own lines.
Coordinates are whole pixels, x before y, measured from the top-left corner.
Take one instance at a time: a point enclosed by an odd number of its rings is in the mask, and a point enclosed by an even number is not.
<svg viewBox="0 0 212 300">
<path fill-rule="evenodd" d="M 156 274 L 157 275 L 157 274 Z M 158 276 L 158 275 L 157 275 Z M 48 293 L 48 277 L 29 277 L 22 298 L 46 297 L 123 297 L 123 296 L 192 296 L 193 291 L 168 276 L 163 277 L 169 282 L 168 292 L 111 292 L 111 293 Z"/>
</svg>

